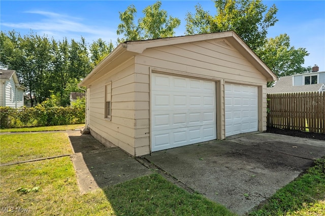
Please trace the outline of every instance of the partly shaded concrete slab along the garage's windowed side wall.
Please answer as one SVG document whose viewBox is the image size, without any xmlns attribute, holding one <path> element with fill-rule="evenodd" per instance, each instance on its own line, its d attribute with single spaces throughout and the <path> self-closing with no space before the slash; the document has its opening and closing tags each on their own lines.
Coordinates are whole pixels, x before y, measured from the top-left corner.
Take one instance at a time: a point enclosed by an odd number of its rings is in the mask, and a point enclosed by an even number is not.
<svg viewBox="0 0 325 216">
<path fill-rule="evenodd" d="M 75 154 L 71 157 L 81 193 L 152 173 L 121 149 L 105 147 L 91 135 L 67 132 Z"/>
</svg>

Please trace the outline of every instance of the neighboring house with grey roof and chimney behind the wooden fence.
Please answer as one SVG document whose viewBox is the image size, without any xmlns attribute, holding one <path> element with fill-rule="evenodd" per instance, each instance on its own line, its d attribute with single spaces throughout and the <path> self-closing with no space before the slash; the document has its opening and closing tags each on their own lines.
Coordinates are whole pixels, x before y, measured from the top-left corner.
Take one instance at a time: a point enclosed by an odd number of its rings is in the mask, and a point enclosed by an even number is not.
<svg viewBox="0 0 325 216">
<path fill-rule="evenodd" d="M 318 69 L 318 66 L 315 65 L 311 73 L 280 77 L 273 87 L 267 89 L 267 92 L 287 93 L 325 91 L 325 71 L 318 71 Z"/>
</svg>

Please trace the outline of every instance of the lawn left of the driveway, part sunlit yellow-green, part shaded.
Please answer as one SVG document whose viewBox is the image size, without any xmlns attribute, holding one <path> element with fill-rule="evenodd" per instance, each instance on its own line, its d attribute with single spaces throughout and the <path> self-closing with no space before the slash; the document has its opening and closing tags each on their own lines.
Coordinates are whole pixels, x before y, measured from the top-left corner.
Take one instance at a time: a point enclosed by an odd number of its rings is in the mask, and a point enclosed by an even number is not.
<svg viewBox="0 0 325 216">
<path fill-rule="evenodd" d="M 2 134 L 2 163 L 70 153 L 68 147 L 63 132 Z M 81 195 L 68 156 L 1 166 L 0 175 L 0 206 L 28 215 L 235 215 L 157 173 Z"/>
</svg>

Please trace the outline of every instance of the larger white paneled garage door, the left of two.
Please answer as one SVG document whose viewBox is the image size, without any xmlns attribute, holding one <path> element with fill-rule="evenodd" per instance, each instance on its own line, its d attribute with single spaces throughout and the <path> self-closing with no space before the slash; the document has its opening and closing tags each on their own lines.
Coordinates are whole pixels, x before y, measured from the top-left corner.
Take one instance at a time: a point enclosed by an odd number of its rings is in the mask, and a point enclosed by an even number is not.
<svg viewBox="0 0 325 216">
<path fill-rule="evenodd" d="M 215 83 L 151 76 L 151 151 L 216 139 Z"/>
</svg>

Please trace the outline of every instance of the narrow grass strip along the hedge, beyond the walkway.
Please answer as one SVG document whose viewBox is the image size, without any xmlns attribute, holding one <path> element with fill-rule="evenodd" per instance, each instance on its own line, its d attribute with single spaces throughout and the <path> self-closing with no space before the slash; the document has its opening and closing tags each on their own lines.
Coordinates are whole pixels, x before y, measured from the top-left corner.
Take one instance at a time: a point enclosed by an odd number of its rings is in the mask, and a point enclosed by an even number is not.
<svg viewBox="0 0 325 216">
<path fill-rule="evenodd" d="M 0 132 L 38 132 L 38 131 L 61 131 L 61 130 L 75 130 L 84 127 L 85 124 L 76 125 L 57 125 L 47 127 L 22 127 L 22 128 L 9 128 L 0 129 Z"/>
</svg>

